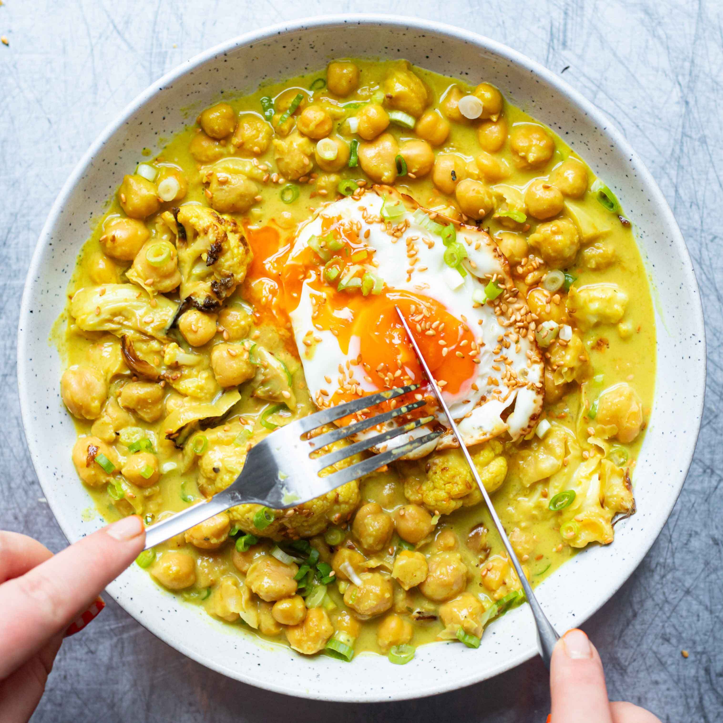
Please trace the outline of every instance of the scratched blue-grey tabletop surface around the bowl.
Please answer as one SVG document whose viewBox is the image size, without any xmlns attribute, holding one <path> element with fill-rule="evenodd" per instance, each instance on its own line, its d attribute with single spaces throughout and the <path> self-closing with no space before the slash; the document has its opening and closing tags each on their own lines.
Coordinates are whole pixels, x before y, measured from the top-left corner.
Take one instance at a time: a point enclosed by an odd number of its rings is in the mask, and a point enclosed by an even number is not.
<svg viewBox="0 0 723 723">
<path fill-rule="evenodd" d="M 65 541 L 35 479 L 15 378 L 17 300 L 46 214 L 108 121 L 156 77 L 264 25 L 322 12 L 408 12 L 399 1 L 174 2 L 5 0 L 0 7 L 0 527 L 53 550 Z M 308 8 L 308 9 L 307 9 Z M 416 14 L 489 35 L 596 103 L 646 161 L 675 213 L 704 300 L 709 377 L 701 439 L 683 494 L 646 560 L 583 628 L 609 693 L 666 722 L 723 717 L 723 12 L 715 0 L 417 0 Z M 441 10 L 440 10 L 441 9 Z M 681 380 L 684 383 L 684 380 Z M 684 419 L 671 424 L 685 424 Z M 690 657 L 683 659 L 681 649 Z M 35 721 L 103 719 L 543 722 L 547 678 L 532 661 L 423 701 L 346 706 L 249 688 L 185 659 L 119 607 L 66 643 Z"/>
</svg>

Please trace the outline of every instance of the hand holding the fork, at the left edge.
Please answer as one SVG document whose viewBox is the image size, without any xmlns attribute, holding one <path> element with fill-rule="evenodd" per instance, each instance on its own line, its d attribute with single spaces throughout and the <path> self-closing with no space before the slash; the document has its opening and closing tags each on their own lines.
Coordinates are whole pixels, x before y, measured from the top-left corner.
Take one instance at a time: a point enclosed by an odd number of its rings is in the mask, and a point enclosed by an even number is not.
<svg viewBox="0 0 723 723">
<path fill-rule="evenodd" d="M 53 555 L 0 531 L 0 722 L 27 721 L 68 626 L 143 549 L 140 517 L 126 517 Z"/>
</svg>

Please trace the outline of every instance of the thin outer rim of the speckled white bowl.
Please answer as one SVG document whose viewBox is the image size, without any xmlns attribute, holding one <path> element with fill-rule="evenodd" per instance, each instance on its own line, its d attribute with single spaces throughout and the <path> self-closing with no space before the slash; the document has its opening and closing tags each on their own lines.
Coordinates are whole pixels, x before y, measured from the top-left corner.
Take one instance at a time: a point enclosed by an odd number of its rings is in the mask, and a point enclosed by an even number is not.
<svg viewBox="0 0 723 723">
<path fill-rule="evenodd" d="M 550 72 L 547 68 L 543 67 L 536 61 L 529 59 L 527 56 L 524 56 L 518 51 L 515 51 L 508 46 L 497 43 L 495 40 L 491 40 L 482 35 L 471 33 L 469 30 L 463 30 L 461 28 L 445 25 L 440 22 L 420 20 L 413 17 L 404 17 L 398 15 L 338 14 L 304 18 L 301 20 L 296 20 L 294 22 L 284 22 L 278 25 L 264 27 L 261 30 L 256 30 L 252 33 L 246 33 L 245 35 L 241 35 L 232 40 L 228 40 L 225 43 L 221 43 L 218 46 L 210 48 L 209 50 L 198 54 L 192 59 L 189 59 L 188 61 L 179 65 L 179 67 L 176 67 L 176 69 L 172 70 L 171 72 L 168 72 L 166 75 L 161 77 L 161 79 L 150 85 L 147 90 L 138 95 L 137 98 L 135 98 L 132 103 L 130 103 L 126 108 L 124 108 L 121 114 L 119 114 L 119 116 L 117 116 L 114 121 L 108 124 L 108 126 L 103 130 L 103 132 L 100 133 L 95 142 L 93 142 L 93 145 L 90 146 L 85 155 L 83 155 L 80 161 L 77 163 L 77 166 L 74 168 L 74 171 L 69 176 L 69 179 L 62 187 L 61 192 L 59 193 L 53 207 L 51 208 L 48 219 L 43 226 L 43 230 L 40 232 L 40 238 L 38 240 L 38 245 L 35 248 L 33 259 L 30 262 L 30 269 L 28 271 L 25 291 L 22 296 L 22 304 L 20 307 L 20 322 L 18 325 L 17 343 L 17 377 L 18 389 L 20 393 L 20 408 L 22 412 L 22 421 L 23 427 L 25 429 L 26 440 L 28 442 L 28 447 L 30 448 L 33 466 L 40 481 L 40 486 L 43 487 L 44 491 L 46 491 L 45 485 L 43 484 L 44 471 L 40 463 L 40 458 L 42 456 L 43 450 L 40 448 L 39 441 L 36 441 L 33 438 L 33 435 L 29 434 L 30 427 L 33 424 L 33 416 L 30 410 L 30 394 L 32 382 L 30 376 L 28 375 L 28 365 L 25 363 L 25 358 L 23 356 L 23 352 L 26 351 L 28 348 L 28 330 L 31 328 L 32 325 L 32 317 L 30 317 L 30 307 L 33 301 L 31 290 L 33 288 L 33 280 L 38 278 L 42 251 L 43 248 L 46 247 L 46 244 L 48 244 L 49 238 L 51 236 L 51 231 L 54 228 L 56 222 L 58 221 L 59 215 L 61 214 L 64 205 L 69 199 L 69 196 L 72 194 L 74 187 L 82 178 L 83 174 L 85 174 L 85 171 L 87 171 L 87 169 L 92 166 L 95 155 L 97 155 L 98 152 L 102 149 L 103 145 L 106 143 L 109 137 L 111 137 L 114 132 L 116 132 L 116 130 L 119 129 L 119 127 L 121 127 L 121 125 L 127 121 L 127 119 L 133 116 L 133 114 L 139 108 L 141 108 L 147 102 L 147 100 L 153 98 L 153 95 L 161 92 L 164 87 L 171 85 L 180 77 L 184 76 L 189 72 L 192 72 L 201 64 L 205 63 L 210 59 L 213 59 L 215 56 L 221 56 L 222 54 L 226 54 L 229 51 L 233 51 L 239 46 L 246 46 L 252 43 L 258 43 L 259 41 L 272 38 L 276 35 L 291 35 L 298 31 L 311 30 L 314 28 L 322 27 L 343 27 L 344 25 L 388 25 L 393 27 L 398 26 L 401 29 L 433 33 L 435 35 L 442 36 L 442 38 L 449 37 L 463 40 L 467 43 L 471 43 L 474 46 L 477 46 L 482 50 L 489 51 L 492 54 L 500 56 L 502 59 L 509 61 L 511 64 L 518 65 L 523 69 L 531 72 L 532 74 L 536 74 L 537 76 L 542 77 L 545 82 L 555 87 L 555 89 L 559 93 L 568 96 L 568 99 L 572 100 L 573 103 L 583 114 L 587 114 L 591 117 L 591 119 L 596 121 L 599 126 L 599 131 L 605 137 L 607 137 L 611 145 L 617 147 L 618 150 L 622 151 L 623 155 L 626 155 L 628 157 L 628 162 L 630 163 L 634 171 L 636 171 L 636 174 L 638 174 L 638 178 L 645 187 L 646 191 L 650 194 L 652 200 L 654 200 L 657 207 L 662 210 L 662 213 L 664 215 L 664 218 L 662 218 L 662 222 L 667 225 L 667 228 L 669 228 L 669 233 L 672 238 L 672 244 L 677 248 L 677 252 L 680 254 L 680 257 L 687 262 L 685 263 L 685 268 L 681 269 L 681 272 L 685 280 L 685 286 L 687 286 L 692 291 L 692 295 L 696 298 L 697 301 L 697 303 L 694 304 L 694 308 L 688 309 L 688 312 L 690 313 L 690 328 L 693 333 L 696 333 L 700 336 L 703 343 L 702 368 L 696 370 L 698 372 L 698 375 L 696 377 L 697 385 L 696 388 L 693 388 L 693 396 L 697 401 L 697 405 L 694 408 L 690 409 L 690 419 L 688 420 L 688 424 L 690 424 L 690 432 L 695 431 L 695 435 L 689 435 L 687 437 L 688 453 L 685 457 L 685 465 L 684 468 L 681 468 L 680 471 L 675 473 L 675 477 L 677 478 L 677 482 L 673 486 L 675 494 L 670 494 L 669 497 L 667 497 L 665 514 L 664 516 L 660 517 L 660 519 L 662 519 L 662 523 L 657 525 L 655 529 L 647 530 L 651 534 L 649 541 L 646 542 L 645 545 L 633 551 L 630 557 L 625 560 L 625 568 L 628 569 L 628 573 L 624 577 L 620 578 L 618 581 L 615 581 L 615 584 L 611 588 L 607 589 L 606 594 L 604 595 L 604 599 L 600 599 L 599 604 L 597 604 L 594 609 L 588 609 L 586 611 L 583 611 L 581 615 L 577 615 L 576 621 L 579 625 L 580 623 L 583 623 L 583 621 L 586 620 L 588 617 L 593 615 L 597 609 L 602 607 L 602 605 L 604 605 L 607 600 L 609 600 L 609 598 L 613 594 L 615 594 L 617 589 L 619 589 L 620 586 L 625 582 L 625 580 L 627 580 L 630 575 L 632 575 L 633 572 L 636 570 L 641 560 L 643 560 L 643 557 L 646 555 L 652 544 L 654 544 L 657 536 L 659 536 L 665 521 L 667 521 L 667 518 L 669 517 L 672 508 L 675 505 L 678 495 L 680 495 L 680 489 L 682 489 L 683 482 L 685 482 L 685 476 L 688 474 L 690 462 L 692 461 L 693 453 L 696 447 L 695 440 L 698 437 L 698 432 L 701 425 L 703 413 L 703 398 L 706 381 L 705 328 L 703 324 L 703 309 L 701 305 L 700 294 L 698 291 L 698 284 L 693 270 L 693 264 L 690 261 L 690 254 L 688 254 L 688 249 L 685 246 L 685 241 L 682 234 L 680 233 L 680 229 L 677 226 L 675 217 L 673 216 L 672 211 L 667 204 L 667 201 L 665 200 L 662 192 L 659 190 L 656 182 L 654 181 L 653 177 L 651 176 L 641 159 L 633 151 L 630 145 L 628 145 L 628 142 L 625 140 L 623 135 L 620 134 L 620 132 L 618 132 L 617 129 L 612 126 L 612 124 L 604 116 L 602 111 L 599 111 L 589 100 L 584 98 L 581 93 L 578 93 L 577 90 L 574 90 L 573 87 L 570 87 L 570 85 L 568 85 L 560 77 L 557 77 L 557 75 Z M 693 427 L 695 427 L 694 430 Z M 67 525 L 64 525 L 61 521 L 59 521 L 59 524 L 67 539 L 70 539 L 71 534 L 69 534 L 69 527 Z M 121 599 L 124 595 L 121 594 L 120 589 L 114 589 L 114 584 L 111 584 L 108 591 L 111 596 L 116 599 L 116 602 L 119 602 L 119 604 L 123 606 L 123 602 L 121 602 Z M 392 694 L 390 694 L 388 690 L 385 690 L 385 694 L 383 696 L 375 694 L 373 691 L 369 691 L 367 695 L 329 693 L 328 691 L 326 691 L 325 693 L 316 693 L 310 690 L 304 691 L 300 688 L 296 688 L 296 690 L 288 690 L 288 687 L 284 687 L 276 683 L 275 680 L 273 680 L 273 675 L 270 674 L 253 675 L 252 673 L 241 673 L 236 669 L 226 667 L 223 664 L 219 664 L 217 661 L 208 658 L 207 656 L 199 655 L 197 654 L 197 652 L 189 650 L 188 646 L 180 636 L 174 638 L 173 636 L 166 636 L 162 634 L 159 630 L 154 630 L 155 625 L 153 623 L 153 620 L 148 620 L 147 618 L 142 617 L 142 615 L 137 614 L 136 612 L 132 612 L 131 615 L 135 617 L 135 619 L 141 625 L 147 628 L 147 630 L 150 630 L 150 632 L 154 633 L 156 636 L 161 638 L 161 640 L 168 643 L 168 645 L 181 651 L 182 653 L 186 654 L 197 662 L 204 664 L 206 667 L 223 673 L 223 675 L 234 677 L 236 678 L 236 680 L 241 680 L 244 683 L 256 685 L 260 688 L 265 688 L 267 690 L 273 690 L 277 693 L 284 693 L 287 695 L 294 695 L 306 698 L 317 698 L 329 701 L 372 702 L 404 700 L 411 697 L 431 696 L 437 693 L 443 693 L 448 690 L 462 688 L 466 685 L 477 683 L 480 680 L 484 680 L 488 677 L 499 675 L 501 672 L 505 672 L 505 670 L 515 667 L 516 665 L 521 664 L 536 655 L 536 644 L 534 641 L 531 640 L 529 647 L 526 650 L 521 651 L 521 653 L 517 656 L 510 657 L 510 659 L 500 663 L 499 665 L 497 665 L 497 667 L 495 667 L 495 669 L 492 669 L 491 672 L 487 671 L 487 673 L 484 675 L 475 674 L 474 669 L 471 669 L 468 675 L 462 675 L 462 672 L 460 671 L 459 677 L 453 678 L 451 676 L 448 676 L 444 683 L 425 681 L 423 690 L 399 690 L 395 691 Z"/>
</svg>

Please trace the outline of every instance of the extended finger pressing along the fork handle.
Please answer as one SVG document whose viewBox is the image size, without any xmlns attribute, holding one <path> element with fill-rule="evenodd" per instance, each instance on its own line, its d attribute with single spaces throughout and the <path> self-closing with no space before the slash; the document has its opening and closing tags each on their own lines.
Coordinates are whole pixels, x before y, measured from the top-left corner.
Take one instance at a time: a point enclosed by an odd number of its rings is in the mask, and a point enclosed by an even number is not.
<svg viewBox="0 0 723 723">
<path fill-rule="evenodd" d="M 137 515 L 108 525 L 0 586 L 0 680 L 61 633 L 143 549 Z"/>
</svg>

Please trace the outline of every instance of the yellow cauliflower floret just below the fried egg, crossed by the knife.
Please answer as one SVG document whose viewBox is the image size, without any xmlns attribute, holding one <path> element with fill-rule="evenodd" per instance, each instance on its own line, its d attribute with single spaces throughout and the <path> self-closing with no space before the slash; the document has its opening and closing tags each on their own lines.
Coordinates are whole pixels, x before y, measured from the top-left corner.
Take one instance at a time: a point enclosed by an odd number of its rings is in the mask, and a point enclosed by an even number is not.
<svg viewBox="0 0 723 723">
<path fill-rule="evenodd" d="M 502 443 L 484 442 L 470 448 L 474 466 L 487 492 L 499 489 L 507 475 L 507 460 Z M 432 513 L 449 515 L 461 507 L 482 501 L 469 467 L 459 450 L 435 452 L 422 461 L 400 463 L 404 495 L 415 505 L 424 505 Z"/>
</svg>

